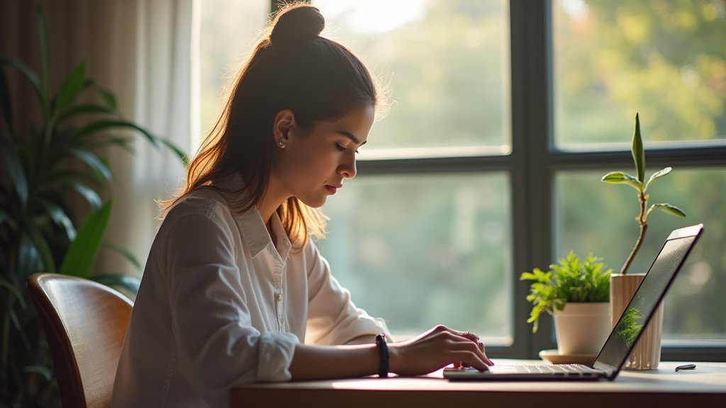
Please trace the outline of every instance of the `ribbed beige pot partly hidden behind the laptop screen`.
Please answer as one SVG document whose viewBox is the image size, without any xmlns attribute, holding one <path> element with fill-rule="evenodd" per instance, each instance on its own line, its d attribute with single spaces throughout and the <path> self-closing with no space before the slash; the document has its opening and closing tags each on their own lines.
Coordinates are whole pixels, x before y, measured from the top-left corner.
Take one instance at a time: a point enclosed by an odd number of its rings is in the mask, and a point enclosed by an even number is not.
<svg viewBox="0 0 726 408">
<path fill-rule="evenodd" d="M 612 274 L 610 277 L 611 327 L 615 327 L 621 314 L 630 303 L 645 274 Z M 656 308 L 653 319 L 643 330 L 640 340 L 630 352 L 625 370 L 655 370 L 661 362 L 661 334 L 663 332 L 663 302 Z"/>
</svg>

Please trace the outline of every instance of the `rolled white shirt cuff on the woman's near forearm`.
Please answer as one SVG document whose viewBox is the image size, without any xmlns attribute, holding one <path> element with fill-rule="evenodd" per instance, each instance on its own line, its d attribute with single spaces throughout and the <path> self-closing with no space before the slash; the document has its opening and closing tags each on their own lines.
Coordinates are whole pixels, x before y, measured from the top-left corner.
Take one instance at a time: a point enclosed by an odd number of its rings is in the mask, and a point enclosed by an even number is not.
<svg viewBox="0 0 726 408">
<path fill-rule="evenodd" d="M 259 338 L 259 362 L 257 380 L 265 383 L 280 383 L 293 378 L 290 364 L 293 362 L 295 346 L 299 343 L 293 333 L 263 333 Z"/>
</svg>

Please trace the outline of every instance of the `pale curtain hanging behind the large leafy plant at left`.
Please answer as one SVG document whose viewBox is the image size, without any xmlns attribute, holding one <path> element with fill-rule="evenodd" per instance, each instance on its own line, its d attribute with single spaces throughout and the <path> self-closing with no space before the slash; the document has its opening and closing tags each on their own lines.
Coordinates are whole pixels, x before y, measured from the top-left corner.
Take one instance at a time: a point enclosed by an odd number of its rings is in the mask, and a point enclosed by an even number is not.
<svg viewBox="0 0 726 408">
<path fill-rule="evenodd" d="M 0 1 L 0 51 L 36 67 L 38 2 L 48 25 L 54 86 L 85 61 L 89 78 L 115 94 L 126 119 L 189 151 L 199 128 L 194 62 L 199 0 Z M 134 136 L 133 149 L 133 155 L 108 152 L 114 205 L 105 240 L 129 250 L 143 266 L 160 222 L 155 200 L 179 187 L 184 167 L 143 136 Z M 99 253 L 95 270 L 141 274 L 112 250 Z"/>
</svg>

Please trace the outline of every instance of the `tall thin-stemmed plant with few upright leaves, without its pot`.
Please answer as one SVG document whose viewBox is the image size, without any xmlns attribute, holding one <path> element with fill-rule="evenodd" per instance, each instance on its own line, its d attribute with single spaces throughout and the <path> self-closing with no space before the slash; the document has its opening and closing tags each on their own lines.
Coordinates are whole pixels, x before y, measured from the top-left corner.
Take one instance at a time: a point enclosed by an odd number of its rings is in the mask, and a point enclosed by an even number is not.
<svg viewBox="0 0 726 408">
<path fill-rule="evenodd" d="M 663 170 L 656 171 L 650 176 L 648 182 L 645 182 L 645 150 L 643 149 L 643 139 L 640 137 L 640 118 L 637 113 L 635 114 L 635 134 L 633 134 L 632 144 L 632 156 L 635 162 L 635 171 L 637 177 L 631 174 L 624 173 L 622 171 L 611 171 L 603 176 L 602 181 L 610 184 L 627 184 L 637 190 L 637 200 L 640 203 L 640 212 L 635 218 L 638 225 L 640 226 L 640 234 L 635 241 L 635 247 L 630 252 L 625 264 L 620 269 L 620 274 L 627 274 L 630 264 L 632 264 L 635 255 L 640 250 L 640 245 L 643 245 L 643 239 L 645 238 L 645 232 L 648 230 L 648 216 L 653 210 L 661 210 L 674 216 L 685 217 L 685 213 L 678 207 L 670 205 L 668 203 L 658 203 L 650 205 L 648 210 L 645 207 L 648 205 L 648 187 L 654 180 L 669 174 L 672 170 L 670 167 L 666 167 Z"/>
</svg>

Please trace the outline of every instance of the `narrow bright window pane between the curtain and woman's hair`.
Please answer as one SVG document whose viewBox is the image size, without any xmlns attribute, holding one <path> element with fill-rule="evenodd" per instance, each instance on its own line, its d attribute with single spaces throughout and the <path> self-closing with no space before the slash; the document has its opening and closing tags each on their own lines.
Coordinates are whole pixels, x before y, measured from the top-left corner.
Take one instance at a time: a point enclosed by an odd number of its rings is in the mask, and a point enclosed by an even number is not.
<svg viewBox="0 0 726 408">
<path fill-rule="evenodd" d="M 225 102 L 221 97 L 229 78 L 245 62 L 267 24 L 270 2 L 203 0 L 200 12 L 200 130 L 205 133 Z M 201 135 L 195 151 L 200 140 Z"/>
</svg>

